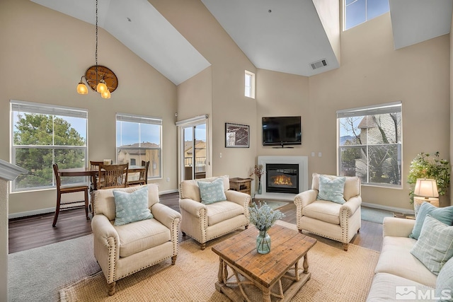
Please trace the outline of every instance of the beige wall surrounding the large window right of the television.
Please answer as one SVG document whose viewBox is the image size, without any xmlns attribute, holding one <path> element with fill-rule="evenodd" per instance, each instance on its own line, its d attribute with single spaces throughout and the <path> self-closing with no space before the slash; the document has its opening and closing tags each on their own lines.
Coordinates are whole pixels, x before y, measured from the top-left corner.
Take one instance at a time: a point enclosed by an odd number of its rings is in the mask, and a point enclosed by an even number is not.
<svg viewBox="0 0 453 302">
<path fill-rule="evenodd" d="M 422 151 L 449 158 L 449 35 L 394 50 L 386 13 L 343 32 L 341 45 L 342 66 L 309 79 L 316 121 L 311 146 L 323 152 L 317 172 L 336 173 L 336 110 L 401 100 L 403 190 L 362 186 L 362 200 L 411 209 L 407 175 L 413 158 Z"/>
</svg>

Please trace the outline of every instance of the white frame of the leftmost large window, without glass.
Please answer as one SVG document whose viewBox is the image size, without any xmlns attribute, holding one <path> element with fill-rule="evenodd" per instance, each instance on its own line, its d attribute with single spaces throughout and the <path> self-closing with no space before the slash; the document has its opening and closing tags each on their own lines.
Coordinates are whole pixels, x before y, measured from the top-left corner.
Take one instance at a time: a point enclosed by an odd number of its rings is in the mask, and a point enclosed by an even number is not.
<svg viewBox="0 0 453 302">
<path fill-rule="evenodd" d="M 35 114 L 35 115 L 52 115 L 55 117 L 77 117 L 85 120 L 85 144 L 82 146 L 68 146 L 68 145 L 55 145 L 55 132 L 52 132 L 52 144 L 48 145 L 16 145 L 14 144 L 14 112 L 23 112 L 24 114 Z M 25 102 L 22 100 L 10 100 L 10 150 L 11 163 L 16 164 L 16 150 L 18 149 L 48 149 L 52 150 L 52 164 L 55 163 L 55 151 L 60 150 L 82 150 L 84 151 L 84 167 L 88 164 L 88 110 L 82 108 L 72 108 L 61 105 L 50 105 L 44 103 L 33 103 Z M 50 167 L 52 168 L 52 167 Z M 60 167 L 61 168 L 61 167 Z M 84 179 L 83 181 L 79 181 Z M 55 175 L 52 170 L 52 185 L 41 185 L 36 187 L 25 187 L 25 188 L 16 188 L 16 180 L 11 182 L 10 190 L 11 192 L 31 192 L 36 190 L 46 190 L 56 187 Z M 75 181 L 75 182 L 74 182 Z M 87 178 L 71 178 L 68 179 L 68 183 L 71 184 L 86 184 Z M 65 181 L 64 181 L 65 182 Z M 65 183 L 64 183 L 65 184 Z"/>
</svg>

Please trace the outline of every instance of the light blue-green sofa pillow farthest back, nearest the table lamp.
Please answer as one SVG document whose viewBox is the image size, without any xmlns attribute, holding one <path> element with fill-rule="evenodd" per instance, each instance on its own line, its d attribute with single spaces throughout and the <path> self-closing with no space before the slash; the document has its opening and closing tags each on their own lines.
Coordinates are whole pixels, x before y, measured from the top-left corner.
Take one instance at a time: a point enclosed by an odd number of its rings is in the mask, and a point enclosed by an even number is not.
<svg viewBox="0 0 453 302">
<path fill-rule="evenodd" d="M 437 219 L 440 222 L 448 224 L 451 226 L 453 224 L 453 206 L 437 208 L 434 207 L 429 202 L 423 202 L 418 209 L 417 218 L 415 219 L 415 224 L 412 229 L 410 238 L 418 239 L 420 236 L 420 231 L 422 230 L 423 223 L 425 221 L 426 215 L 430 215 L 432 218 Z"/>
</svg>

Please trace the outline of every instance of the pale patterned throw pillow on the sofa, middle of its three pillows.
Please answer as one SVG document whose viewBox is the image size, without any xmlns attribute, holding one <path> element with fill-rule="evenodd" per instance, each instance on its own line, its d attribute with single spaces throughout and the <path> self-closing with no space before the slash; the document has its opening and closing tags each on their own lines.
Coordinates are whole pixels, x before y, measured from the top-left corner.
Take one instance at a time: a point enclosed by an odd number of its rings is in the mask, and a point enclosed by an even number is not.
<svg viewBox="0 0 453 302">
<path fill-rule="evenodd" d="M 411 254 L 432 274 L 438 275 L 440 269 L 453 256 L 453 226 L 448 226 L 427 215 Z"/>
</svg>

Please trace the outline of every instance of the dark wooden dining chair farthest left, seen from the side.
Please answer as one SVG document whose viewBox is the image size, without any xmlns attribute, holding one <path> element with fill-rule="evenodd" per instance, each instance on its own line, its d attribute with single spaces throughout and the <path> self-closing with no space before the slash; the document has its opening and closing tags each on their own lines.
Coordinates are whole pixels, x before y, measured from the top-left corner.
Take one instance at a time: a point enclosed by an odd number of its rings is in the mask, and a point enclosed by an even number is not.
<svg viewBox="0 0 453 302">
<path fill-rule="evenodd" d="M 75 208 L 85 208 L 86 220 L 90 220 L 88 217 L 88 185 L 81 185 L 77 187 L 62 187 L 62 178 L 59 175 L 58 165 L 56 163 L 53 164 L 54 173 L 55 173 L 55 180 L 57 181 L 57 207 L 55 208 L 55 216 L 54 221 L 52 222 L 52 226 L 57 224 L 58 214 L 60 209 L 75 209 Z M 76 201 L 76 202 L 63 202 L 62 203 L 62 194 L 66 193 L 74 193 L 74 192 L 84 192 L 84 200 Z M 84 202 L 84 204 L 81 204 Z"/>
</svg>

